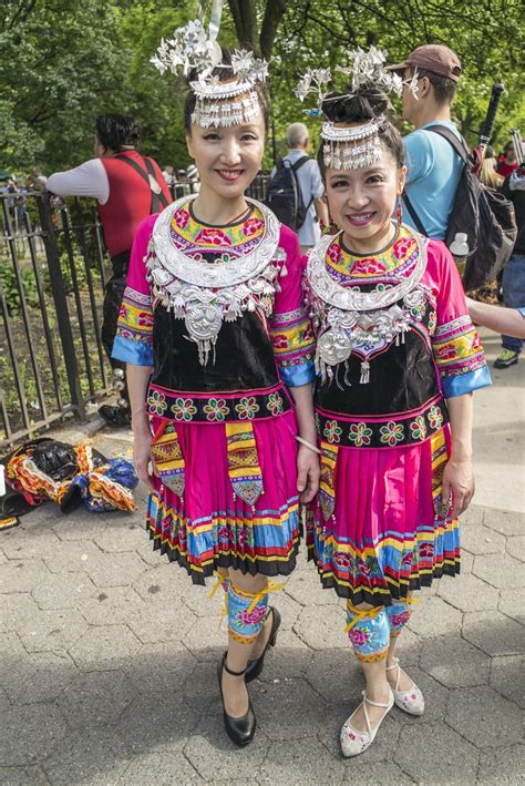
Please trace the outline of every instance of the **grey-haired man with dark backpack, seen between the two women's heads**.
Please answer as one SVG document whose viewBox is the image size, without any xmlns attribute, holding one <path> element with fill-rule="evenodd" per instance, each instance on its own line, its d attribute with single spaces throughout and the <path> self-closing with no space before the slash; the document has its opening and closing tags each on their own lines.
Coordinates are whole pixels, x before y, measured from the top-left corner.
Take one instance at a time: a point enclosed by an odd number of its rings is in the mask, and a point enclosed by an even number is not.
<svg viewBox="0 0 525 786">
<path fill-rule="evenodd" d="M 266 204 L 282 224 L 297 232 L 301 251 L 311 248 L 321 236 L 319 222 L 328 225 L 325 186 L 315 159 L 308 155 L 305 123 L 292 123 L 286 132 L 288 152 L 271 173 Z"/>
</svg>

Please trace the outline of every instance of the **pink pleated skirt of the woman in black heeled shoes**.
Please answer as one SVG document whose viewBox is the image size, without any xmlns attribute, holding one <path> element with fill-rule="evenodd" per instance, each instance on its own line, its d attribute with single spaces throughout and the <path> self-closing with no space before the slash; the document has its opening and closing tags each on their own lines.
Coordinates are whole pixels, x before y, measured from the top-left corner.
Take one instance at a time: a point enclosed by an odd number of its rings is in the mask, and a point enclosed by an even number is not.
<svg viewBox="0 0 525 786">
<path fill-rule="evenodd" d="M 163 418 L 152 417 L 154 435 Z M 226 423 L 175 422 L 184 492 L 156 479 L 147 506 L 154 548 L 203 584 L 218 568 L 287 575 L 299 545 L 297 426 L 294 410 L 251 421 L 262 493 L 248 504 L 234 491 Z"/>
</svg>

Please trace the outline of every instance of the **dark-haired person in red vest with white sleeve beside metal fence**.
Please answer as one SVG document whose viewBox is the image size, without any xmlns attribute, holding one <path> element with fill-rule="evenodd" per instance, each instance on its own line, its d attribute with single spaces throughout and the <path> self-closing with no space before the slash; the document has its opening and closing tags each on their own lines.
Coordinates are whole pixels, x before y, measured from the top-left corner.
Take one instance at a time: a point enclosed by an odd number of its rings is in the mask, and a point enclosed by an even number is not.
<svg viewBox="0 0 525 786">
<path fill-rule="evenodd" d="M 140 129 L 132 118 L 100 115 L 95 121 L 96 157 L 48 178 L 48 190 L 58 196 L 92 196 L 99 201 L 99 216 L 113 270 L 104 294 L 102 343 L 113 369 L 124 369 L 124 364 L 112 358 L 111 353 L 135 231 L 143 218 L 172 202 L 157 163 L 136 150 L 138 137 Z M 109 426 L 130 425 L 125 389 L 121 404 L 103 405 L 99 409 Z"/>
</svg>

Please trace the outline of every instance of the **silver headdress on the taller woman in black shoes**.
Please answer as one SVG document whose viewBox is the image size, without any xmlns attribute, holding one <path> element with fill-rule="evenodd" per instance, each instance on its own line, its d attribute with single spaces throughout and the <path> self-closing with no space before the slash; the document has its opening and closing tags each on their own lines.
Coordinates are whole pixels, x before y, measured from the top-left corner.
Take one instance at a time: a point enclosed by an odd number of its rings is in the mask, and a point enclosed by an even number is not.
<svg viewBox="0 0 525 786">
<path fill-rule="evenodd" d="M 151 60 L 161 73 L 171 71 L 176 74 L 182 70 L 187 76 L 196 71 L 197 79 L 189 82 L 196 95 L 192 122 L 204 129 L 253 122 L 260 112 L 255 85 L 265 82 L 268 73 L 266 60 L 257 59 L 244 49 L 233 52 L 230 65 L 222 62 L 222 50 L 216 40 L 222 4 L 222 0 L 214 0 L 208 30 L 199 19 L 188 22 L 175 30 L 172 39 L 162 39 Z M 213 75 L 218 65 L 231 71 L 230 80 L 220 81 Z"/>
</svg>

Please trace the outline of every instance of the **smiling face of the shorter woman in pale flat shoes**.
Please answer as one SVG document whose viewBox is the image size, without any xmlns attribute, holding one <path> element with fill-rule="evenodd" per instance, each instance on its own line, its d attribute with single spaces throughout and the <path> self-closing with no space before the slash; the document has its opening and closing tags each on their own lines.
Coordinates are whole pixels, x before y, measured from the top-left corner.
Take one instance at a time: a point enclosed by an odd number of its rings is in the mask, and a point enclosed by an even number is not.
<svg viewBox="0 0 525 786">
<path fill-rule="evenodd" d="M 390 242 L 392 213 L 404 187 L 406 167 L 398 167 L 383 144 L 381 151 L 381 159 L 370 166 L 325 173 L 330 215 L 347 246 L 358 254 L 373 254 Z"/>
</svg>

